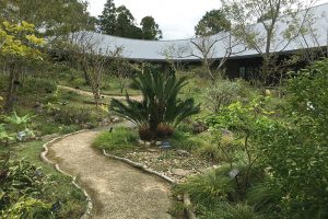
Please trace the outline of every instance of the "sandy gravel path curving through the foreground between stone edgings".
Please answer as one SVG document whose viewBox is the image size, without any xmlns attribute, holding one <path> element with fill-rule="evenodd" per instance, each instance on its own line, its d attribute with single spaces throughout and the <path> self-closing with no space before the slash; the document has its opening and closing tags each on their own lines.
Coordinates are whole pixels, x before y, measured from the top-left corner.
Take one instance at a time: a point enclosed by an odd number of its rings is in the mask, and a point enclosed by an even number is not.
<svg viewBox="0 0 328 219">
<path fill-rule="evenodd" d="M 93 218 L 171 218 L 169 184 L 91 148 L 98 134 L 86 130 L 63 138 L 49 147 L 48 155 L 78 176 L 94 204 Z"/>
</svg>

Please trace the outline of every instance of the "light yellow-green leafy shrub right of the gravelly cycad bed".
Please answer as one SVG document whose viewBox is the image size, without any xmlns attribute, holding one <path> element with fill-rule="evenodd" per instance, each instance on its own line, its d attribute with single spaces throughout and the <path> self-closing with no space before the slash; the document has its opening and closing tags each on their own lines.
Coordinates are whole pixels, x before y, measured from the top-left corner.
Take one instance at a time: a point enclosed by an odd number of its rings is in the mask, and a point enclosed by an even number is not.
<svg viewBox="0 0 328 219">
<path fill-rule="evenodd" d="M 241 194 L 245 194 L 250 186 L 250 173 L 254 168 L 258 166 L 258 159 L 261 155 L 258 149 L 257 140 L 260 138 L 260 132 L 272 124 L 271 119 L 268 117 L 272 112 L 267 112 L 265 110 L 265 103 L 268 99 L 258 97 L 248 104 L 242 104 L 236 102 L 231 104 L 224 112 L 220 115 L 209 117 L 207 119 L 208 124 L 212 127 L 214 135 L 218 136 L 218 146 L 222 154 L 231 169 L 233 170 L 235 165 L 239 162 L 246 164 L 246 169 L 238 170 L 242 173 L 242 177 L 238 177 L 237 186 Z M 221 143 L 222 135 L 220 134 L 221 128 L 230 128 L 235 130 L 237 138 L 239 139 L 239 155 L 236 159 L 236 153 L 234 150 L 229 150 Z M 216 130 L 215 130 L 216 129 Z M 219 134 L 218 132 L 219 129 Z"/>
</svg>

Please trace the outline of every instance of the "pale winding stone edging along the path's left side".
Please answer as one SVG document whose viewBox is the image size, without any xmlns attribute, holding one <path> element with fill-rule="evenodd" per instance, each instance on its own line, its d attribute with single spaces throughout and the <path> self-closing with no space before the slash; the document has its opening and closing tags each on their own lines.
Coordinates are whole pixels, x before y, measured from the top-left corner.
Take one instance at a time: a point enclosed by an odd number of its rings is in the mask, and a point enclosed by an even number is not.
<svg viewBox="0 0 328 219">
<path fill-rule="evenodd" d="M 59 168 L 59 164 L 58 164 L 58 163 L 52 162 L 52 161 L 50 161 L 49 159 L 47 159 L 47 154 L 48 154 L 48 152 L 49 152 L 48 147 L 49 147 L 50 145 L 52 145 L 52 143 L 55 143 L 55 142 L 57 142 L 57 141 L 63 139 L 63 138 L 67 138 L 67 137 L 69 137 L 69 136 L 73 136 L 73 135 L 75 135 L 75 134 L 80 134 L 80 132 L 83 132 L 83 131 L 86 131 L 86 129 L 82 129 L 82 130 L 78 130 L 78 131 L 74 131 L 74 132 L 71 132 L 71 134 L 67 134 L 67 135 L 60 136 L 60 137 L 54 138 L 52 140 L 50 140 L 50 141 L 44 143 L 44 145 L 43 145 L 44 151 L 40 153 L 40 159 L 43 160 L 43 162 L 45 162 L 45 163 L 47 163 L 47 164 L 49 164 L 49 165 L 52 165 L 52 166 L 56 169 L 56 171 L 60 172 L 60 173 L 63 174 L 63 175 L 67 175 L 67 176 L 71 177 L 71 178 L 72 178 L 72 185 L 75 186 L 78 189 L 81 189 L 81 191 L 83 192 L 87 205 L 86 205 L 86 209 L 85 209 L 83 216 L 81 217 L 81 219 L 87 219 L 87 218 L 91 218 L 91 216 L 92 216 L 92 209 L 93 209 L 93 204 L 92 204 L 92 200 L 91 200 L 90 195 L 86 193 L 86 191 L 85 191 L 84 188 L 82 188 L 82 187 L 77 183 L 77 177 L 75 177 L 75 176 L 72 176 L 72 175 L 66 173 L 65 171 L 62 171 L 62 170 Z"/>
</svg>

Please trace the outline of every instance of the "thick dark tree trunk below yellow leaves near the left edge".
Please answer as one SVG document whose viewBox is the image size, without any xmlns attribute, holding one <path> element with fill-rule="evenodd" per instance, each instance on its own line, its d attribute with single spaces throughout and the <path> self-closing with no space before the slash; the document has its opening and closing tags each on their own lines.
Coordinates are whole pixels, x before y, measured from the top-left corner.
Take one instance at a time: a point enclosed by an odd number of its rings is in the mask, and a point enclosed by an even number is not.
<svg viewBox="0 0 328 219">
<path fill-rule="evenodd" d="M 7 113 L 12 112 L 13 103 L 17 96 L 17 88 L 20 84 L 20 71 L 16 66 L 13 64 L 9 68 L 10 77 L 9 77 L 9 84 L 8 84 L 8 93 L 5 99 L 4 111 Z"/>
</svg>

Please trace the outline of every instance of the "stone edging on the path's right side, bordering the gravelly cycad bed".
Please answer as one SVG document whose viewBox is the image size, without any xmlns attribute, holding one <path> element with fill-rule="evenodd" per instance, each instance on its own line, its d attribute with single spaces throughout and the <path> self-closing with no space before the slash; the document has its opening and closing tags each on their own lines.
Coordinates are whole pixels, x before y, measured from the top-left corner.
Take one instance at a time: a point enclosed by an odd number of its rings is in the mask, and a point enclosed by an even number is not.
<svg viewBox="0 0 328 219">
<path fill-rule="evenodd" d="M 145 165 L 143 165 L 142 163 L 131 161 L 127 158 L 120 158 L 120 157 L 117 157 L 117 155 L 112 155 L 112 154 L 107 153 L 105 149 L 103 149 L 103 153 L 104 153 L 105 157 L 121 161 L 121 162 L 127 163 L 127 164 L 129 164 L 133 168 L 140 169 L 140 170 L 142 170 L 142 171 L 144 171 L 149 174 L 156 175 L 156 176 L 161 177 L 162 180 L 164 180 L 164 181 L 166 181 L 166 182 L 168 182 L 173 185 L 176 184 L 176 182 L 174 180 L 172 180 L 171 177 L 168 177 L 168 176 L 166 176 L 162 173 L 159 173 L 156 171 L 153 171 L 153 170 L 147 168 Z M 191 210 L 192 204 L 190 201 L 189 194 L 184 194 L 184 205 L 186 207 L 187 218 L 188 219 L 196 219 L 196 215 Z"/>
</svg>

